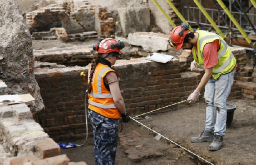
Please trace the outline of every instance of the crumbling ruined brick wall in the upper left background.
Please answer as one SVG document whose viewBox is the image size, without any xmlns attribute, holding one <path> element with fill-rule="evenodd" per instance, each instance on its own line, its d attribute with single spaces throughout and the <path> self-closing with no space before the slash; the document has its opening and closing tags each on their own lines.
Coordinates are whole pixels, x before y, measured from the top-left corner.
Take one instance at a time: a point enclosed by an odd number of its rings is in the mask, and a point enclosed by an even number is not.
<svg viewBox="0 0 256 165">
<path fill-rule="evenodd" d="M 73 4 L 48 5 L 26 14 L 26 22 L 31 33 L 48 31 L 54 27 L 65 28 L 68 34 L 95 30 L 95 7 L 85 3 L 75 11 Z"/>
</svg>

